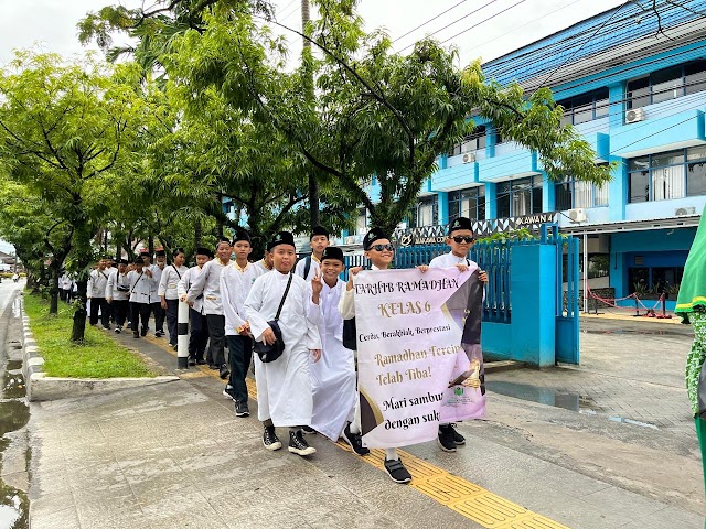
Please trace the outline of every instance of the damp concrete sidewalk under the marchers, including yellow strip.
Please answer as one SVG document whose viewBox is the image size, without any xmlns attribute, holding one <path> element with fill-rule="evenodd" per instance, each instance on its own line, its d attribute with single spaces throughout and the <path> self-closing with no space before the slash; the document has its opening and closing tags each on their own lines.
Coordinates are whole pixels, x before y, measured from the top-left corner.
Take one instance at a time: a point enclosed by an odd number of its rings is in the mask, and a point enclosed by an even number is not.
<svg viewBox="0 0 706 529">
<path fill-rule="evenodd" d="M 176 364 L 154 339 L 119 339 Z M 676 487 L 676 499 L 656 490 L 673 488 L 670 479 L 693 485 L 700 463 L 668 442 L 637 442 L 639 427 L 489 393 L 488 420 L 460 425 L 468 442 L 458 453 L 436 443 L 406 450 L 414 479 L 402 486 L 378 468 L 379 454 L 357 457 L 321 436 L 309 435 L 310 460 L 267 452 L 255 402 L 238 419 L 215 371 L 179 374 L 178 382 L 32 404 L 34 529 L 703 527 L 703 490 Z M 584 452 L 593 471 L 602 460 L 620 468 L 621 458 L 644 458 L 662 483 L 635 494 L 617 486 L 621 476 L 590 477 Z M 666 475 L 676 465 L 682 475 Z"/>
</svg>

